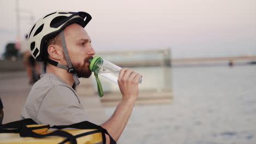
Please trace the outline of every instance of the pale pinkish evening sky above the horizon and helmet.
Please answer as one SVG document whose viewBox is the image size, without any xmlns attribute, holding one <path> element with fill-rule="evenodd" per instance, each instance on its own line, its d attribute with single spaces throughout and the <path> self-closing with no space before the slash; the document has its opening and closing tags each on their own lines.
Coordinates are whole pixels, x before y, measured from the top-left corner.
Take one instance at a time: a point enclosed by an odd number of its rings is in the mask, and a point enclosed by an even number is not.
<svg viewBox="0 0 256 144">
<path fill-rule="evenodd" d="M 22 38 L 53 11 L 86 11 L 96 52 L 171 48 L 173 58 L 256 56 L 255 0 L 18 2 Z M 0 0 L 0 55 L 16 39 L 15 8 L 14 0 Z"/>
</svg>

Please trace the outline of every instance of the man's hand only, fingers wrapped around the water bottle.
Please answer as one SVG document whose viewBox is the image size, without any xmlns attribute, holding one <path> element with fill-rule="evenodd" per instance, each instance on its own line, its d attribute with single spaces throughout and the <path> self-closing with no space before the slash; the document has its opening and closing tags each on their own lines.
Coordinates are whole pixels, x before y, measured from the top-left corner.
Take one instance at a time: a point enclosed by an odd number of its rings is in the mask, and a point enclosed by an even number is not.
<svg viewBox="0 0 256 144">
<path fill-rule="evenodd" d="M 123 100 L 136 100 L 138 97 L 138 81 L 142 75 L 131 69 L 121 69 L 118 85 L 123 95 Z"/>
</svg>

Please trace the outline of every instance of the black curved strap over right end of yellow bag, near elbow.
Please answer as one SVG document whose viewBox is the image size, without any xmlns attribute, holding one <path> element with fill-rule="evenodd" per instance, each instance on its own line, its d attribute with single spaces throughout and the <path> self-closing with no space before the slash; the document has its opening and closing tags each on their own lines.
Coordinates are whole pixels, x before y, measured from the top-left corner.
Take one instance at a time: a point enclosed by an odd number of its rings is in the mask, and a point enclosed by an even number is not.
<svg viewBox="0 0 256 144">
<path fill-rule="evenodd" d="M 109 136 L 110 144 L 116 144 L 117 143 L 112 138 L 112 136 L 110 136 L 110 134 L 108 133 L 108 131 L 106 129 L 102 128 L 100 125 L 96 125 L 96 124 L 88 122 L 88 121 L 84 121 L 84 122 L 80 122 L 80 123 L 75 123 L 75 124 L 71 124 L 71 125 L 54 125 L 51 128 L 54 128 L 54 129 L 65 129 L 65 128 L 98 129 L 98 130 L 101 130 L 103 143 L 106 143 L 106 136 L 105 136 L 105 134 L 107 134 Z"/>
</svg>

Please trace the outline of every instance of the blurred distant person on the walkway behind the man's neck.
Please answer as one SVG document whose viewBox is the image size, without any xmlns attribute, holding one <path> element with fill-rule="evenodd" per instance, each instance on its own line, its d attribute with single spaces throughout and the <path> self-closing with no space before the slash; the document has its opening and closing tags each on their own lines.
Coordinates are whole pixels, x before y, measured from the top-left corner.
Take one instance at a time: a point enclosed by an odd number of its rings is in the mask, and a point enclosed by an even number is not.
<svg viewBox="0 0 256 144">
<path fill-rule="evenodd" d="M 37 80 L 40 79 L 40 65 L 31 56 L 30 49 L 28 47 L 27 36 L 25 35 L 25 40 L 21 41 L 21 55 L 24 67 L 26 68 L 26 73 L 28 77 L 28 83 L 33 85 Z"/>
</svg>

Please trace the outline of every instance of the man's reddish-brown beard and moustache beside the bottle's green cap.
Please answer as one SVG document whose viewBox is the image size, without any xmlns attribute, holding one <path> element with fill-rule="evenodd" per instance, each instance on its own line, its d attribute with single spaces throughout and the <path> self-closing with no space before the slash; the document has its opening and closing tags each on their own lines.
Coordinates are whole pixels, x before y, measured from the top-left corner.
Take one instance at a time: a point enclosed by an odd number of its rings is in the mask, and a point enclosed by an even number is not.
<svg viewBox="0 0 256 144">
<path fill-rule="evenodd" d="M 89 62 L 89 59 L 91 58 L 92 57 L 85 58 L 84 65 L 81 65 L 79 62 L 74 62 L 74 63 L 72 62 L 74 70 L 79 77 L 88 78 L 91 76 L 91 73 L 92 73 L 91 70 L 89 69 L 89 67 L 85 66 L 86 62 Z"/>
</svg>

